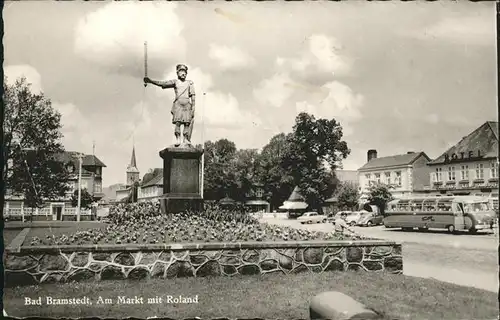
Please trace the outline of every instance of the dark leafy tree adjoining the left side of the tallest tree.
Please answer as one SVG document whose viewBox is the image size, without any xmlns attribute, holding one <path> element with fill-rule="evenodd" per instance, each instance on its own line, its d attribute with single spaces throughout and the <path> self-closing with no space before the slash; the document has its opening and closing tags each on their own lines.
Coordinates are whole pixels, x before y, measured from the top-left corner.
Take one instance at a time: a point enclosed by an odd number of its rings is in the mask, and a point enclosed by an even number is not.
<svg viewBox="0 0 500 320">
<path fill-rule="evenodd" d="M 264 185 L 265 199 L 272 209 L 283 204 L 295 187 L 293 177 L 282 166 L 287 143 L 287 135 L 277 134 L 264 146 L 259 156 L 257 181 Z"/>
</svg>

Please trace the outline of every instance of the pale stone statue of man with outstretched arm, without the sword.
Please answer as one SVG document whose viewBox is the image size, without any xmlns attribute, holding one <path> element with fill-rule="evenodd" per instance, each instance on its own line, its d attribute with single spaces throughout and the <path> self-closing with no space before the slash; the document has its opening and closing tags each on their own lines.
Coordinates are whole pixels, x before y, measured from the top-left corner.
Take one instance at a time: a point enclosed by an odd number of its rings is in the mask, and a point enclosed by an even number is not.
<svg viewBox="0 0 500 320">
<path fill-rule="evenodd" d="M 151 80 L 144 78 L 144 83 L 152 83 L 163 89 L 173 88 L 175 91 L 175 100 L 172 105 L 172 124 L 175 125 L 175 146 L 191 146 L 191 134 L 193 133 L 194 110 L 195 110 L 195 92 L 194 83 L 186 80 L 188 68 L 183 65 L 177 65 L 177 79 L 167 81 Z M 181 141 L 181 125 L 183 125 L 184 141 Z"/>
</svg>

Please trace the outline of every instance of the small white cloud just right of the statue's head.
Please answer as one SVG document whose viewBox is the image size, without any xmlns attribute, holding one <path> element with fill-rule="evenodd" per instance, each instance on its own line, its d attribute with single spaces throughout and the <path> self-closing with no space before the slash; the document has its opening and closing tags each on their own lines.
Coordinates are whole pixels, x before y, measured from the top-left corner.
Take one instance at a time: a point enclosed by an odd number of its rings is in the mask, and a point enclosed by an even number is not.
<svg viewBox="0 0 500 320">
<path fill-rule="evenodd" d="M 236 47 L 211 44 L 208 55 L 224 70 L 241 70 L 255 64 L 255 60 L 249 54 Z"/>
</svg>

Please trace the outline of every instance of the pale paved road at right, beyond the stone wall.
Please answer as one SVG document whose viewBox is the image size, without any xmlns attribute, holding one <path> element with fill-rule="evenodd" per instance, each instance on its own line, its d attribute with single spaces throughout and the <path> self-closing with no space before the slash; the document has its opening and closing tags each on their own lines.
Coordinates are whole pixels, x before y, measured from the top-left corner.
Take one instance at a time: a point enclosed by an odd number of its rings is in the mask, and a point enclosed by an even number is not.
<svg viewBox="0 0 500 320">
<path fill-rule="evenodd" d="M 285 217 L 266 217 L 264 223 L 311 231 L 331 232 L 331 223 L 302 225 Z M 446 230 L 407 232 L 383 226 L 354 227 L 356 233 L 403 244 L 403 273 L 498 292 L 498 232 L 449 234 Z"/>
</svg>

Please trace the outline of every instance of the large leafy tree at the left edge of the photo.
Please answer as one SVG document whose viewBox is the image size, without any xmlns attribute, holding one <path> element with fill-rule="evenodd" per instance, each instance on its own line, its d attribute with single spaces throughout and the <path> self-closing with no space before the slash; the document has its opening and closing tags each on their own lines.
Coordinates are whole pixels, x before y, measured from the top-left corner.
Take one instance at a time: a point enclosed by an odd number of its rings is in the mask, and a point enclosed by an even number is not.
<svg viewBox="0 0 500 320">
<path fill-rule="evenodd" d="M 68 172 L 58 156 L 61 114 L 43 93 L 33 93 L 25 78 L 8 84 L 4 78 L 3 179 L 6 189 L 24 195 L 29 207 L 43 199 L 63 197 Z"/>
</svg>

